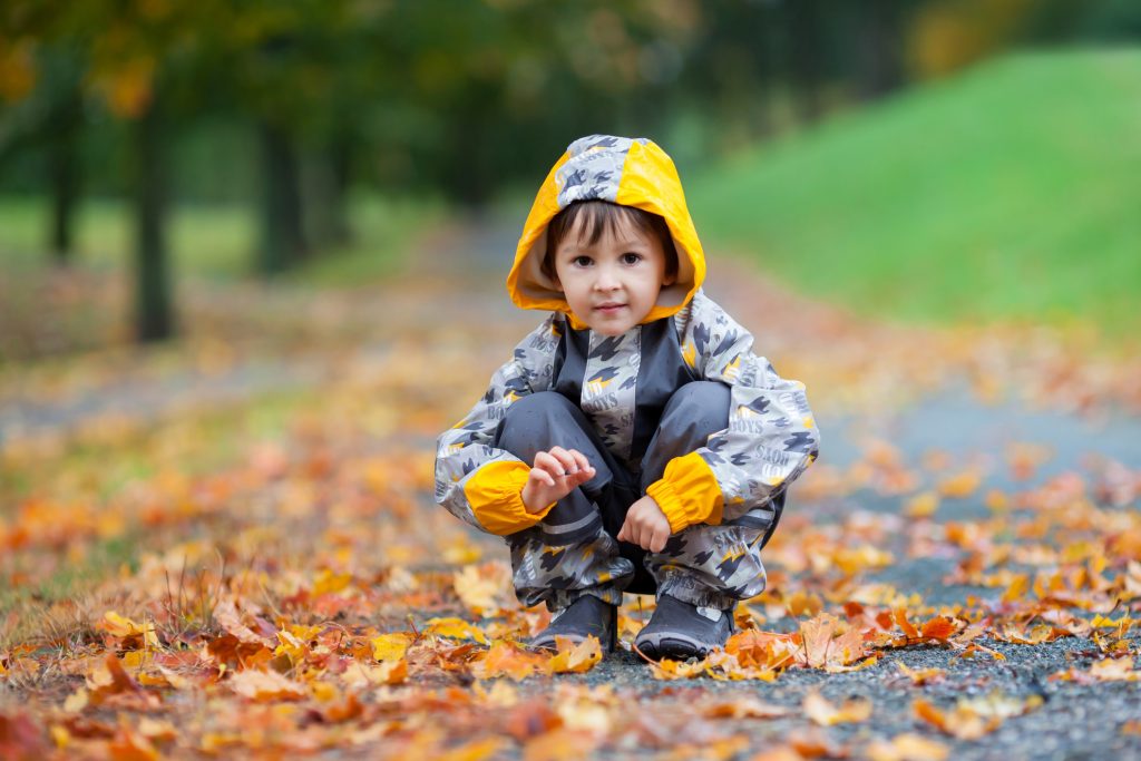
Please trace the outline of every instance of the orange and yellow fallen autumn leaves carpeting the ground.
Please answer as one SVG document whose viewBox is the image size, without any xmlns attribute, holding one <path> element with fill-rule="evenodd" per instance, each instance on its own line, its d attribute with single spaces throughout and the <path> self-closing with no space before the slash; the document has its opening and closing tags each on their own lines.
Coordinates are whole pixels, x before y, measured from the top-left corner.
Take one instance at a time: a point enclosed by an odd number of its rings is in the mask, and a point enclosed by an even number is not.
<svg viewBox="0 0 1141 761">
<path fill-rule="evenodd" d="M 841 326 L 809 314 L 774 331 L 772 353 L 810 388 L 844 389 L 825 408 L 871 410 L 892 396 L 885 384 L 907 398 L 953 373 L 978 379 L 984 395 L 1003 392 L 984 377 L 1009 378 L 1011 392 L 1039 403 L 1073 399 L 1085 381 L 1083 408 L 1141 406 L 1119 380 L 1127 364 L 1065 366 L 1063 351 L 1039 346 L 1035 374 L 1019 364 L 1027 354 L 1015 335 L 990 335 L 984 350 L 969 331 Z M 472 353 L 470 341 L 462 331 L 406 341 L 394 349 L 402 362 L 383 365 L 345 350 L 341 375 L 281 403 L 269 435 L 259 432 L 266 413 L 249 404 L 148 427 L 102 420 L 66 440 L 6 448 L 5 471 L 34 486 L 2 495 L 11 508 L 0 513 L 0 570 L 18 597 L 0 617 L 0 750 L 941 759 L 948 743 L 1043 710 L 1037 693 L 956 695 L 958 662 L 1001 664 L 1011 648 L 1073 640 L 1083 643 L 1075 662 L 1050 685 L 1141 679 L 1141 519 L 1128 509 L 1141 473 L 1098 461 L 1042 478 L 1051 453 L 1017 443 L 1001 464 L 1020 491 L 988 491 L 995 463 L 932 451 L 914 467 L 872 437 L 861 459 L 822 462 L 798 485 L 806 509 L 782 523 L 766 552 L 769 586 L 738 607 L 725 648 L 632 666 L 653 677 L 641 685 L 593 683 L 583 675 L 607 667 L 597 640 L 528 648 L 550 614 L 515 600 L 499 543 L 430 504 L 432 438 L 462 412 L 455 399 L 478 396 L 482 375 L 444 373 L 426 388 L 408 367 L 461 358 L 489 371 L 495 347 Z M 857 358 L 868 345 L 884 349 L 875 372 Z M 219 460 L 219 450 L 230 455 Z M 867 493 L 895 500 L 896 512 L 858 509 Z M 853 501 L 826 521 L 806 515 Z M 964 501 L 986 515 L 958 517 Z M 41 593 L 114 542 L 137 551 L 82 593 Z M 877 581 L 916 558 L 945 559 L 945 583 L 979 591 L 929 605 Z M 652 600 L 630 598 L 620 612 L 629 663 L 652 612 Z M 916 651 L 946 659 L 913 669 L 898 657 Z M 906 690 L 908 707 L 826 689 L 855 672 Z M 815 674 L 825 681 L 810 683 L 825 689 L 766 691 L 790 674 Z M 911 730 L 877 729 L 889 710 L 907 713 Z M 835 734 L 845 727 L 867 731 Z"/>
</svg>

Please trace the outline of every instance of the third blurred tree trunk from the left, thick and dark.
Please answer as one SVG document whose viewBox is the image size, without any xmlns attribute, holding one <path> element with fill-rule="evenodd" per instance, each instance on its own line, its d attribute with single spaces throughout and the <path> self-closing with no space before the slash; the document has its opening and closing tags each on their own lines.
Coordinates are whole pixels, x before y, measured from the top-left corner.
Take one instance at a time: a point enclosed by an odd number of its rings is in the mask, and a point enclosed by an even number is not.
<svg viewBox="0 0 1141 761">
<path fill-rule="evenodd" d="M 262 216 L 258 269 L 262 275 L 274 275 L 297 266 L 306 253 L 301 172 L 297 149 L 285 130 L 262 122 L 259 140 Z"/>
</svg>

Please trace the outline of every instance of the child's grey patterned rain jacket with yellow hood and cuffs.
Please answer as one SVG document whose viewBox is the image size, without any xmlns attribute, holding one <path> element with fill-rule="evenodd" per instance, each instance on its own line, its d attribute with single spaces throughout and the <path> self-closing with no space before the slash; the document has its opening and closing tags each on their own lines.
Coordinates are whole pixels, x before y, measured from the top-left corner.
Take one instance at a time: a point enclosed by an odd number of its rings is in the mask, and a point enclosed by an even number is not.
<svg viewBox="0 0 1141 761">
<path fill-rule="evenodd" d="M 663 217 L 678 251 L 678 277 L 641 324 L 621 335 L 589 330 L 543 273 L 547 226 L 575 201 L 599 199 Z M 570 144 L 535 199 L 507 278 L 511 300 L 551 315 L 492 377 L 484 397 L 438 440 L 436 501 L 492 534 L 513 534 L 547 515 L 527 512 L 531 464 L 494 446 L 508 407 L 555 390 L 586 414 L 607 448 L 632 469 L 670 396 L 695 380 L 730 388 L 729 426 L 675 458 L 647 494 L 671 532 L 695 524 L 770 527 L 775 500 L 815 459 L 818 434 L 799 381 L 753 354 L 753 338 L 701 290 L 705 257 L 670 157 L 645 138 L 591 136 Z M 553 444 L 553 443 L 552 443 Z"/>
</svg>

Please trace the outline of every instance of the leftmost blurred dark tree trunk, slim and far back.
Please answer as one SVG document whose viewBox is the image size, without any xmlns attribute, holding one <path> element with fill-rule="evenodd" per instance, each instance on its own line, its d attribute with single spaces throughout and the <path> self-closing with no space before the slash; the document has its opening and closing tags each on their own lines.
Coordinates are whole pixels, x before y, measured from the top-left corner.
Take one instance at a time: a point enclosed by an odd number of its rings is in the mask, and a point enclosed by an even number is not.
<svg viewBox="0 0 1141 761">
<path fill-rule="evenodd" d="M 75 204 L 79 200 L 80 164 L 76 151 L 83 122 L 83 96 L 78 82 L 63 94 L 48 126 L 48 176 L 51 188 L 49 240 L 57 266 L 71 262 L 74 249 Z"/>
</svg>

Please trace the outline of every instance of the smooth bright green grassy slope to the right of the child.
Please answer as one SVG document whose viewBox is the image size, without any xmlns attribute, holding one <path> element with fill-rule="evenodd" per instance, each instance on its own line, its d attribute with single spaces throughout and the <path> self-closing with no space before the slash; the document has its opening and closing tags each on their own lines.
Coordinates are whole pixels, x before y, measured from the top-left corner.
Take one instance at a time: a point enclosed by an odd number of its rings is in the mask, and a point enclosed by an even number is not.
<svg viewBox="0 0 1141 761">
<path fill-rule="evenodd" d="M 1022 54 L 735 156 L 688 196 L 707 248 L 865 314 L 1124 335 L 1139 135 L 1141 50 Z"/>
</svg>

